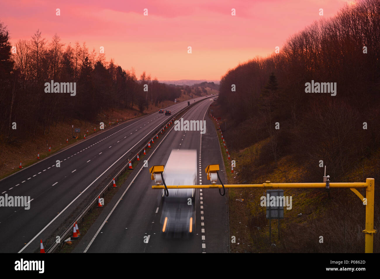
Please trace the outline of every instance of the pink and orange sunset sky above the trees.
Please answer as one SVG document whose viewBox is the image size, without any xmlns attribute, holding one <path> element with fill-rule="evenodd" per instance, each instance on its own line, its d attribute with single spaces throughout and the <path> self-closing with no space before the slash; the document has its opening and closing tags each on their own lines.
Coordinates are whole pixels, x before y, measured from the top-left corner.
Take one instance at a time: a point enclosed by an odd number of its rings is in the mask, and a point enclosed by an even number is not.
<svg viewBox="0 0 380 279">
<path fill-rule="evenodd" d="M 37 29 L 49 42 L 86 42 L 105 48 L 123 69 L 135 68 L 158 80 L 220 80 L 228 69 L 257 55 L 266 56 L 286 39 L 347 0 L 1 0 L 0 20 L 12 44 Z M 55 9 L 60 8 L 60 16 Z M 148 16 L 143 15 L 144 8 Z M 231 16 L 231 9 L 236 16 Z M 187 47 L 192 53 L 187 53 Z"/>
</svg>

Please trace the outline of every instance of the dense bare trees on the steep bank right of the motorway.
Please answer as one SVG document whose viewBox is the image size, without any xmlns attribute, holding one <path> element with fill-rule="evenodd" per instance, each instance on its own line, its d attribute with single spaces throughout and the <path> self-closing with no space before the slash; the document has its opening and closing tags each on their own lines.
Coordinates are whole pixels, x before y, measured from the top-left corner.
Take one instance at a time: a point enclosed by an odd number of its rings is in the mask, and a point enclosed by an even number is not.
<svg viewBox="0 0 380 279">
<path fill-rule="evenodd" d="M 339 179 L 379 148 L 379 52 L 380 1 L 344 6 L 290 36 L 279 53 L 226 72 L 218 103 L 232 121 L 223 135 L 234 149 L 268 139 L 249 168 L 275 168 L 292 154 L 308 179 L 320 180 L 320 160 Z M 336 96 L 306 92 L 312 81 L 336 83 Z"/>
</svg>

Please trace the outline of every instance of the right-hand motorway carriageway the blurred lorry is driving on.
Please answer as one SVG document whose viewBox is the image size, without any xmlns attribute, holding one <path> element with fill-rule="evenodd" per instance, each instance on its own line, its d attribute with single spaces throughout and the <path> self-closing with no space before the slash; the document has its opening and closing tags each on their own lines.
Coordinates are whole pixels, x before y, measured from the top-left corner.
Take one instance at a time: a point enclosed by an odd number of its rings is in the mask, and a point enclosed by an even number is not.
<svg viewBox="0 0 380 279">
<path fill-rule="evenodd" d="M 86 235 L 78 240 L 74 252 L 229 252 L 227 194 L 220 196 L 217 189 L 197 189 L 193 234 L 166 235 L 160 224 L 163 190 L 152 190 L 154 181 L 149 174 L 151 166 L 166 164 L 172 149 L 196 149 L 197 184 L 208 184 L 204 169 L 209 164 L 220 164 L 225 183 L 217 133 L 206 114 L 210 103 L 209 100 L 199 102 L 182 116 L 184 120 L 206 120 L 206 133 L 175 131 L 171 125 L 171 130 L 150 154 L 148 168 L 141 163 L 135 169 Z"/>
</svg>

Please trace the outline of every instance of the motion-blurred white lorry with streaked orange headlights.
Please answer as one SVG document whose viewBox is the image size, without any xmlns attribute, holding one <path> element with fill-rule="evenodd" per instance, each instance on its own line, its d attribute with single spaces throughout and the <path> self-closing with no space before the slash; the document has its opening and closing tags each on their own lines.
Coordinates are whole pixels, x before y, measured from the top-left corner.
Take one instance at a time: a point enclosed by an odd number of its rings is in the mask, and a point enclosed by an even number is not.
<svg viewBox="0 0 380 279">
<path fill-rule="evenodd" d="M 172 150 L 165 165 L 166 185 L 196 185 L 196 150 Z M 196 189 L 169 189 L 162 192 L 162 232 L 195 232 Z"/>
</svg>

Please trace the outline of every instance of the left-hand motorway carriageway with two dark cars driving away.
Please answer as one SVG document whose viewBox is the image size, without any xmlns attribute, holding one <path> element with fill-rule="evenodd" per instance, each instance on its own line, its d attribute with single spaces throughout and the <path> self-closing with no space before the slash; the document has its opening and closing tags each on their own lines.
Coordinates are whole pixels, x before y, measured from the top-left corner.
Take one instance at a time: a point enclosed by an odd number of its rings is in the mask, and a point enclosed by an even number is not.
<svg viewBox="0 0 380 279">
<path fill-rule="evenodd" d="M 175 113 L 186 106 L 187 101 L 169 108 Z M 172 117 L 153 113 L 123 122 L 0 181 L 2 196 L 31 199 L 29 210 L 0 207 L 0 252 L 36 251 L 40 239 L 47 239 L 136 151 L 134 147 L 148 141 L 149 135 Z M 108 119 L 103 122 L 108 123 Z M 57 160 L 59 168 L 55 166 Z"/>
</svg>

